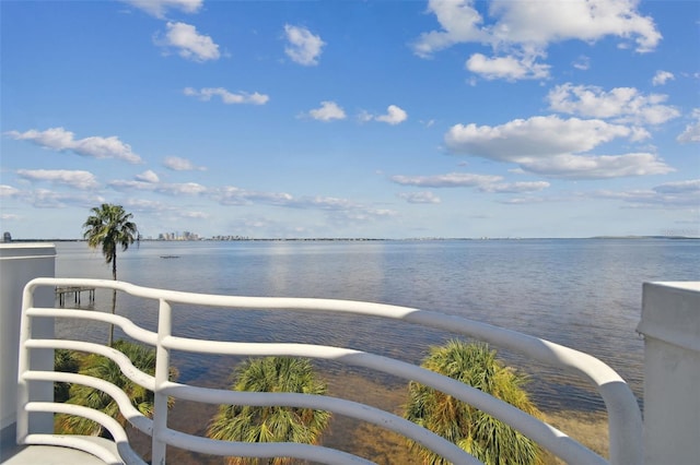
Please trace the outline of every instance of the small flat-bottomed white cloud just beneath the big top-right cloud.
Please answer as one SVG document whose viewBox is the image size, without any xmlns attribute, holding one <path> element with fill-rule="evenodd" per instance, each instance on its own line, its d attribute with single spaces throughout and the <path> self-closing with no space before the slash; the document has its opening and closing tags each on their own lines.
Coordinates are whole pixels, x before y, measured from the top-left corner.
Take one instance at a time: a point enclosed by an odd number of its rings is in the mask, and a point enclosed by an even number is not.
<svg viewBox="0 0 700 465">
<path fill-rule="evenodd" d="M 523 79 L 545 79 L 549 76 L 549 65 L 535 63 L 534 57 L 493 57 L 474 53 L 465 68 L 472 73 L 480 74 L 487 80 L 504 79 L 517 81 Z"/>
</svg>

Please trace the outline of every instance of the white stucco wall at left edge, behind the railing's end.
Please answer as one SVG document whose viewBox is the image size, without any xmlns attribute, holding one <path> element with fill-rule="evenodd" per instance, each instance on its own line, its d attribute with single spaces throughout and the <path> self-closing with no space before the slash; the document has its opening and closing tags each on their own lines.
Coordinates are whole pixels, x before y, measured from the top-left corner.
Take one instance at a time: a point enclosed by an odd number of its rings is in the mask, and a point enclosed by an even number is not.
<svg viewBox="0 0 700 465">
<path fill-rule="evenodd" d="M 54 245 L 0 243 L 0 430 L 11 427 L 16 419 L 18 346 L 24 285 L 35 277 L 54 277 L 55 274 Z M 36 306 L 52 307 L 52 289 L 40 289 L 34 302 Z M 39 337 L 52 337 L 54 321 L 37 319 L 34 330 Z M 32 363 L 38 369 L 51 370 L 52 350 L 33 354 Z M 33 385 L 32 393 L 35 400 L 50 401 L 54 397 L 50 383 Z M 50 414 L 32 418 L 32 428 L 37 428 L 34 429 L 37 432 L 52 432 Z"/>
</svg>

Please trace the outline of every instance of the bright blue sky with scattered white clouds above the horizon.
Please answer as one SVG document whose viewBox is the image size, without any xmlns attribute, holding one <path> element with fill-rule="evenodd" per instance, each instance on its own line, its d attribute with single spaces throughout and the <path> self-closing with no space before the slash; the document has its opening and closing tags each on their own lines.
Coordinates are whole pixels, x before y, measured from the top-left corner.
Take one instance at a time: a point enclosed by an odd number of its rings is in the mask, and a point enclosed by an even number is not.
<svg viewBox="0 0 700 465">
<path fill-rule="evenodd" d="M 1 1 L 0 215 L 700 236 L 700 2 Z"/>
</svg>

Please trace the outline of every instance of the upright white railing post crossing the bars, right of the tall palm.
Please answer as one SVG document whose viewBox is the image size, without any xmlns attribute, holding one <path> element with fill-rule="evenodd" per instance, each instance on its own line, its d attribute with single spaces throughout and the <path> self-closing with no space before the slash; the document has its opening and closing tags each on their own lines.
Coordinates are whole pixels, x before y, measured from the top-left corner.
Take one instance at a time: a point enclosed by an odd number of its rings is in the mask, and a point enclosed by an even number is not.
<svg viewBox="0 0 700 465">
<path fill-rule="evenodd" d="M 168 381 L 171 371 L 170 350 L 163 347 L 163 339 L 173 331 L 173 311 L 171 305 L 160 300 L 158 319 L 158 346 L 155 347 L 155 393 L 153 400 L 153 438 L 151 442 L 151 463 L 165 465 L 165 442 L 160 437 L 167 428 L 167 395 L 162 394 L 163 385 Z"/>
</svg>

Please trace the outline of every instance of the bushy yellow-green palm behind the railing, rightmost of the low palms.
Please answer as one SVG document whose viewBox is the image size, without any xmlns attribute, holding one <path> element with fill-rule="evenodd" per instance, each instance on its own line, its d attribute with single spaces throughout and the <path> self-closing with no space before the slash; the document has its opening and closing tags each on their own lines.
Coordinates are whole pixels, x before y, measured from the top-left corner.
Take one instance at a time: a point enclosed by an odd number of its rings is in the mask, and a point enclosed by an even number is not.
<svg viewBox="0 0 700 465">
<path fill-rule="evenodd" d="M 462 381 L 536 417 L 541 414 L 523 390 L 526 378 L 505 367 L 487 344 L 450 341 L 432 347 L 423 368 Z M 510 426 L 447 394 L 415 381 L 409 383 L 405 417 L 454 442 L 487 465 L 541 464 L 539 446 Z M 447 462 L 409 441 L 424 464 Z"/>
</svg>

